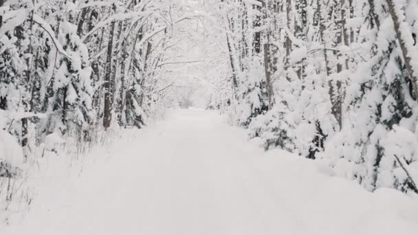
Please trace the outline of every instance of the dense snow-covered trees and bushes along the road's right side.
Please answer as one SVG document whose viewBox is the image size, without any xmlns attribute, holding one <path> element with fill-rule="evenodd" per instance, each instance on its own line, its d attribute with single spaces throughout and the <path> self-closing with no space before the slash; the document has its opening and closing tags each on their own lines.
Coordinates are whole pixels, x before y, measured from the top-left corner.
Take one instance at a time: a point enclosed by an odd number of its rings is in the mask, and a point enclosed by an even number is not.
<svg viewBox="0 0 418 235">
<path fill-rule="evenodd" d="M 223 0 L 232 120 L 369 190 L 417 191 L 418 3 Z"/>
</svg>

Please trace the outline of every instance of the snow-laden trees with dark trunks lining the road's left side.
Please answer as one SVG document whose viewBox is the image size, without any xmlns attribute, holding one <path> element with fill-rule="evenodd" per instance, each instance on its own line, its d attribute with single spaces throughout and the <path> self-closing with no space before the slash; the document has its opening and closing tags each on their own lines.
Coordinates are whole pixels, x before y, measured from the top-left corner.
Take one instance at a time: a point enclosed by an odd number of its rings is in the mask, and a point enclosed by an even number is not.
<svg viewBox="0 0 418 235">
<path fill-rule="evenodd" d="M 21 145 L 25 161 L 50 148 L 45 139 L 95 142 L 112 126 L 144 126 L 170 102 L 162 91 L 173 31 L 195 17 L 180 8 L 166 0 L 1 0 L 1 136 Z M 0 154 L 0 174 L 10 177 L 11 156 Z"/>
</svg>

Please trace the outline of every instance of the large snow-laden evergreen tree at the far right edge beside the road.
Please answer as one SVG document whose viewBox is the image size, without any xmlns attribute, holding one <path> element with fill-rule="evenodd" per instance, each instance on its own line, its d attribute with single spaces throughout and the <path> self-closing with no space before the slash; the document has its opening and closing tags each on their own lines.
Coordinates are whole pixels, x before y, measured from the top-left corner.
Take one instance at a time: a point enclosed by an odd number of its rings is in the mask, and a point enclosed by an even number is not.
<svg viewBox="0 0 418 235">
<path fill-rule="evenodd" d="M 416 139 L 414 78 L 398 46 L 402 43 L 402 20 L 391 16 L 395 9 L 401 19 L 406 14 L 396 4 L 382 2 L 382 8 L 377 8 L 375 1 L 369 4 L 368 24 L 360 28 L 360 36 L 371 42 L 364 48 L 369 58 L 358 64 L 346 89 L 348 123 L 327 143 L 326 155 L 338 157 L 331 163 L 338 175 L 355 179 L 369 190 L 393 187 L 417 191 L 408 177 L 409 171 L 416 172 L 411 166 L 417 161 L 415 147 L 410 145 Z M 416 9 L 416 3 L 408 1 L 404 7 Z M 403 32 L 411 42 L 410 26 L 404 25 Z"/>
</svg>

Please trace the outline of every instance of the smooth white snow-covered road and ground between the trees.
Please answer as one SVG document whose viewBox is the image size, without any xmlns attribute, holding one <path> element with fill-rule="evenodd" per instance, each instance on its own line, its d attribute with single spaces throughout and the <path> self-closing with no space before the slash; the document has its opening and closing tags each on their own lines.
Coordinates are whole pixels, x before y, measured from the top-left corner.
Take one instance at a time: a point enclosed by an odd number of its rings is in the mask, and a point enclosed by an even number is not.
<svg viewBox="0 0 418 235">
<path fill-rule="evenodd" d="M 0 234 L 417 234 L 418 201 L 366 192 L 314 161 L 264 153 L 217 113 L 164 120 L 50 177 L 32 210 Z"/>
</svg>

